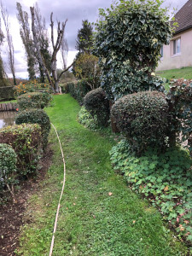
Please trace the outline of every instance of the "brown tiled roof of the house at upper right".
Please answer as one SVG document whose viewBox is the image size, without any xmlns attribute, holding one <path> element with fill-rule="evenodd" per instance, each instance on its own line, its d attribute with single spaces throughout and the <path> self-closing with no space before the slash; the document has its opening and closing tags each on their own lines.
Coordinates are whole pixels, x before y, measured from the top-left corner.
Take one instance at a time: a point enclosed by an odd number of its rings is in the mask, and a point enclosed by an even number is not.
<svg viewBox="0 0 192 256">
<path fill-rule="evenodd" d="M 174 34 L 183 32 L 192 27 L 192 0 L 189 0 L 178 10 L 175 15 L 175 21 L 177 21 L 178 27 L 176 27 Z"/>
</svg>

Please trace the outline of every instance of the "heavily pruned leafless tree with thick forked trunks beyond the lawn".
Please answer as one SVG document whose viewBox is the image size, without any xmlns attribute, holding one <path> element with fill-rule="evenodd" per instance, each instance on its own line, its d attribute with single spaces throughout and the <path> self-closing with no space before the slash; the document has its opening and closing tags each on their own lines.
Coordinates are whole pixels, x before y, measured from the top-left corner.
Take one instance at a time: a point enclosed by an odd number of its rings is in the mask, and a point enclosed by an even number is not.
<svg viewBox="0 0 192 256">
<path fill-rule="evenodd" d="M 49 70 L 46 67 L 44 58 L 42 57 L 41 51 L 39 49 L 39 45 L 38 45 L 37 29 L 35 27 L 34 7 L 30 7 L 30 10 L 31 10 L 31 14 L 32 14 L 32 34 L 33 34 L 33 40 L 34 40 L 35 47 L 38 51 L 38 59 L 41 62 L 41 64 L 44 66 L 44 72 L 46 73 L 46 76 L 49 80 L 49 84 L 50 84 L 52 90 L 57 93 L 57 92 L 59 92 L 59 81 L 60 81 L 61 75 L 65 72 L 67 72 L 67 70 L 73 66 L 73 63 L 72 63 L 69 67 L 64 69 L 60 73 L 59 76 L 57 76 L 56 55 L 57 55 L 58 51 L 61 49 L 61 42 L 62 42 L 62 38 L 64 36 L 67 20 L 65 20 L 65 22 L 62 22 L 62 23 L 60 21 L 57 23 L 57 38 L 56 38 L 56 43 L 55 43 L 53 13 L 51 13 L 51 15 L 50 15 L 51 43 L 52 43 L 52 48 L 53 48 L 53 52 L 52 52 L 52 56 L 51 56 L 51 73 L 52 73 L 52 79 L 53 79 L 52 80 L 51 76 L 49 74 Z"/>
</svg>

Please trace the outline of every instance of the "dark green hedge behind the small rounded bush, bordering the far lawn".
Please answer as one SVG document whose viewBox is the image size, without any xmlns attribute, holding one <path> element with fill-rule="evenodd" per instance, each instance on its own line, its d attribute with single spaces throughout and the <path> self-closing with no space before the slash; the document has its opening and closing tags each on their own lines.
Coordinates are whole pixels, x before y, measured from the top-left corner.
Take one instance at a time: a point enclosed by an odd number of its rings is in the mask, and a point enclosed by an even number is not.
<svg viewBox="0 0 192 256">
<path fill-rule="evenodd" d="M 75 83 L 67 83 L 67 90 L 74 99 L 82 104 L 84 96 L 90 91 L 90 86 L 84 80 L 80 80 Z"/>
</svg>

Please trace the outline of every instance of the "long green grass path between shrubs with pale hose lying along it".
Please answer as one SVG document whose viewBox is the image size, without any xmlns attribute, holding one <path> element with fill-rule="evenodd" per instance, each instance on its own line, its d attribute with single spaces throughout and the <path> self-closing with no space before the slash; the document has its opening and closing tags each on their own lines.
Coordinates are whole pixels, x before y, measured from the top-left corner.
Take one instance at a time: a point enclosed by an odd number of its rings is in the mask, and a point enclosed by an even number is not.
<svg viewBox="0 0 192 256">
<path fill-rule="evenodd" d="M 187 255 L 186 247 L 162 223 L 160 213 L 113 172 L 108 154 L 113 136 L 80 125 L 79 108 L 71 96 L 61 95 L 55 96 L 53 108 L 46 109 L 67 161 L 53 255 Z M 54 150 L 53 164 L 28 201 L 17 255 L 49 253 L 63 178 L 53 129 L 49 141 Z"/>
</svg>

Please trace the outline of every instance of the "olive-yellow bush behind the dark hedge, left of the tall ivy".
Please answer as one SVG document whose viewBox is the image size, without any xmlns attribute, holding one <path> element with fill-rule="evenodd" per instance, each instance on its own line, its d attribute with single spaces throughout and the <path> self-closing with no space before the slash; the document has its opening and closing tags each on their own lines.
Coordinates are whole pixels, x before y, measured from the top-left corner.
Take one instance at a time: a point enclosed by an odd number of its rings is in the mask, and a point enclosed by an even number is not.
<svg viewBox="0 0 192 256">
<path fill-rule="evenodd" d="M 83 79 L 90 86 L 90 90 L 100 86 L 101 70 L 95 55 L 80 54 L 73 65 L 73 70 L 76 78 Z"/>
</svg>

